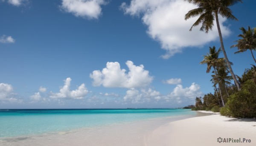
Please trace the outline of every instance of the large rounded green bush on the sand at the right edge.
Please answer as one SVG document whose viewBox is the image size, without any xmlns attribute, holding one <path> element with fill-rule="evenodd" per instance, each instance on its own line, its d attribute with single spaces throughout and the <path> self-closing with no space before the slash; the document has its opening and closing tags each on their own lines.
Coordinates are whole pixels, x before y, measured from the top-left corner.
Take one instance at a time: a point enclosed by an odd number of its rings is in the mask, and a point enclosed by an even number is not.
<svg viewBox="0 0 256 146">
<path fill-rule="evenodd" d="M 221 115 L 232 117 L 256 117 L 256 84 L 247 80 L 242 89 L 230 95 L 226 107 L 221 109 Z"/>
</svg>

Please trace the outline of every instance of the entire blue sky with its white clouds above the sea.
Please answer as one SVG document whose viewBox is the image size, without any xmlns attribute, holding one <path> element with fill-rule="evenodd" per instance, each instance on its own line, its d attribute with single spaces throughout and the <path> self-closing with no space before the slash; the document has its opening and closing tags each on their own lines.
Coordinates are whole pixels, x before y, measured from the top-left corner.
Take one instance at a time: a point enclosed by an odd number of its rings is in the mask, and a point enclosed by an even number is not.
<svg viewBox="0 0 256 146">
<path fill-rule="evenodd" d="M 227 56 L 241 76 L 250 52 L 234 54 L 240 27 L 256 27 L 255 0 L 220 17 Z M 184 0 L 0 0 L 0 109 L 178 108 L 213 92 L 199 64 L 220 47 Z M 255 52 L 253 52 L 255 54 Z M 223 57 L 223 54 L 220 55 Z"/>
</svg>

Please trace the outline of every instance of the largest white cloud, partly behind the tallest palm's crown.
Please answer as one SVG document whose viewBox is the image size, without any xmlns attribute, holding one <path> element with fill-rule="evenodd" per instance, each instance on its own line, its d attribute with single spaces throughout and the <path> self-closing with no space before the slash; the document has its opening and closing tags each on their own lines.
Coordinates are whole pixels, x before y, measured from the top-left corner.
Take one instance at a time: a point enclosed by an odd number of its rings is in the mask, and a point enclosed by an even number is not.
<svg viewBox="0 0 256 146">
<path fill-rule="evenodd" d="M 185 0 L 131 0 L 130 5 L 122 3 L 125 14 L 142 15 L 143 23 L 148 26 L 147 33 L 166 50 L 164 59 L 182 52 L 185 47 L 200 47 L 211 41 L 218 40 L 218 30 L 214 28 L 208 34 L 199 31 L 200 26 L 189 31 L 197 17 L 184 20 L 185 14 L 196 6 Z M 222 35 L 230 34 L 230 29 L 224 26 L 225 18 L 219 17 Z"/>
</svg>

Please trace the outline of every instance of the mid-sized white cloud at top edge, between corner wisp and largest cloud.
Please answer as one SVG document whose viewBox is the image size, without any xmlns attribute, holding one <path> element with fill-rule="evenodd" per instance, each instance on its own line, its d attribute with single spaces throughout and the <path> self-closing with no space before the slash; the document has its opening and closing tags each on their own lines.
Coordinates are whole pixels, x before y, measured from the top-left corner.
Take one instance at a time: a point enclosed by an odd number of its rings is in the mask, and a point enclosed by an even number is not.
<svg viewBox="0 0 256 146">
<path fill-rule="evenodd" d="M 60 7 L 76 17 L 98 19 L 102 14 L 101 5 L 105 4 L 105 0 L 62 0 Z"/>
</svg>

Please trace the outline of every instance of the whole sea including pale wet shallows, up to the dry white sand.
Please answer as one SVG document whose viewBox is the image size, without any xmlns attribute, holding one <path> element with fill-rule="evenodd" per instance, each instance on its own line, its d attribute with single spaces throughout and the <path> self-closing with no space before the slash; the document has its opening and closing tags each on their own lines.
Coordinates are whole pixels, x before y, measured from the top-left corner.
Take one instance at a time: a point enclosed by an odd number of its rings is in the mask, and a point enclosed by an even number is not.
<svg viewBox="0 0 256 146">
<path fill-rule="evenodd" d="M 0 146 L 145 146 L 149 132 L 198 114 L 186 109 L 17 110 L 0 115 L 0 132 L 12 135 L 1 137 Z"/>
</svg>

